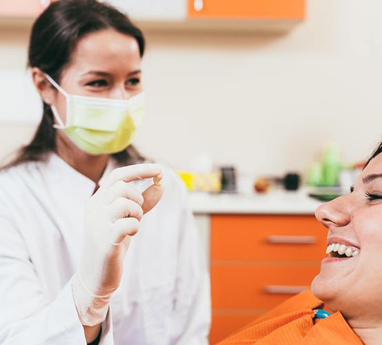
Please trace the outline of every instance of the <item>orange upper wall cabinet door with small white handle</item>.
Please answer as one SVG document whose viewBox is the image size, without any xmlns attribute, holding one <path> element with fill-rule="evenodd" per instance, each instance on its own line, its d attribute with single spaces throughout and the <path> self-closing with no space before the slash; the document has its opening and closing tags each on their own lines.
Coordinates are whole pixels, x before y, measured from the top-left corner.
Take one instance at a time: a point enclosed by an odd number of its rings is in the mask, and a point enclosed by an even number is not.
<svg viewBox="0 0 382 345">
<path fill-rule="evenodd" d="M 188 0 L 188 17 L 300 21 L 305 0 Z"/>
</svg>

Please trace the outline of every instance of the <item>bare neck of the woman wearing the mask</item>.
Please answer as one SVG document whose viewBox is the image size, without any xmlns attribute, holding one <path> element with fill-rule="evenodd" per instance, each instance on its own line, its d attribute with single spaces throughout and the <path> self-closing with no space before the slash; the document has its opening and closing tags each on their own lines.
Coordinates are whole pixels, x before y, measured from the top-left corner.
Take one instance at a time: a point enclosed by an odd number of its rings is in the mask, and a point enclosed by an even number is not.
<svg viewBox="0 0 382 345">
<path fill-rule="evenodd" d="M 80 174 L 98 184 L 108 164 L 109 155 L 88 155 L 61 135 L 57 135 L 56 148 L 59 157 Z"/>
</svg>

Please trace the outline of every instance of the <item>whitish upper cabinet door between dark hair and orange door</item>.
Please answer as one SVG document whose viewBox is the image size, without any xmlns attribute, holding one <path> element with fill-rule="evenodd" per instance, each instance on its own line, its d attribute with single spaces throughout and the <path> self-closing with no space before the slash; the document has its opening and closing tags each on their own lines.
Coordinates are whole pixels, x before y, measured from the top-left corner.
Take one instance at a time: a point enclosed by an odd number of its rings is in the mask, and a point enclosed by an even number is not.
<svg viewBox="0 0 382 345">
<path fill-rule="evenodd" d="M 110 0 L 112 6 L 127 13 L 132 19 L 181 20 L 185 19 L 187 0 Z"/>
</svg>

